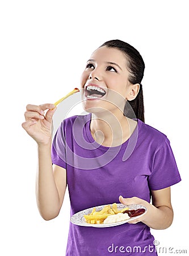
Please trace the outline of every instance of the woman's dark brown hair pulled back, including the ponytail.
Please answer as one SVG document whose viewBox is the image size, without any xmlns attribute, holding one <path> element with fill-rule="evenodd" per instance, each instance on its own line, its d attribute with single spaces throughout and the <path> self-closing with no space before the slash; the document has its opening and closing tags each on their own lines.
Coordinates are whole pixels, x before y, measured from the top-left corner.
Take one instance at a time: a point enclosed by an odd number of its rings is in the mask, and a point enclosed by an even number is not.
<svg viewBox="0 0 189 256">
<path fill-rule="evenodd" d="M 135 100 L 128 101 L 127 104 L 129 103 L 131 105 L 133 111 L 135 112 L 136 118 L 144 122 L 144 99 L 141 81 L 144 76 L 145 64 L 142 56 L 133 46 L 118 39 L 107 41 L 100 47 L 103 46 L 117 48 L 124 53 L 129 71 L 129 82 L 131 82 L 131 84 L 140 84 L 140 90 L 137 97 Z M 129 113 L 127 112 L 127 104 L 125 104 L 124 115 L 129 117 Z"/>
</svg>

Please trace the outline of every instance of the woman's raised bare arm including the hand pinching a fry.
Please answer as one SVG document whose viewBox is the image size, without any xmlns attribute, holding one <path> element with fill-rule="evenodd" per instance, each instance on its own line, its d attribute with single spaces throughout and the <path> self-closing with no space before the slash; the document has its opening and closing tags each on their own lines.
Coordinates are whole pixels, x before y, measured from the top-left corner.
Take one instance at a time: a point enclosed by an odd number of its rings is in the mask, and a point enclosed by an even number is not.
<svg viewBox="0 0 189 256">
<path fill-rule="evenodd" d="M 60 212 L 66 190 L 66 170 L 56 165 L 52 167 L 51 159 L 51 123 L 56 108 L 53 104 L 42 104 L 27 105 L 26 110 L 26 122 L 22 123 L 22 127 L 38 147 L 37 206 L 44 220 L 51 220 Z"/>
</svg>

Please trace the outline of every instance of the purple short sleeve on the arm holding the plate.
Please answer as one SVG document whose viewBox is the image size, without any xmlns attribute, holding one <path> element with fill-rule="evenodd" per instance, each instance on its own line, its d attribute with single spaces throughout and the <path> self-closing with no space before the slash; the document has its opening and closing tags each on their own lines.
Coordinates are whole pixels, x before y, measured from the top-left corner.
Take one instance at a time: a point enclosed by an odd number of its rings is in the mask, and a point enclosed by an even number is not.
<svg viewBox="0 0 189 256">
<path fill-rule="evenodd" d="M 152 174 L 148 177 L 149 187 L 151 190 L 163 189 L 178 183 L 180 180 L 170 141 L 166 138 L 154 155 Z"/>
</svg>

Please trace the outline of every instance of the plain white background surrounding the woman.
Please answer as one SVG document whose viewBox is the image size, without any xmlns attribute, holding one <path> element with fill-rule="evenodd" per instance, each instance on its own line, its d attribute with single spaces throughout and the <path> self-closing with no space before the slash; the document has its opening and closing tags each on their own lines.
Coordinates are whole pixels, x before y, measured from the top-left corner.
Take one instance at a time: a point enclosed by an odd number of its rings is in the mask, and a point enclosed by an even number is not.
<svg viewBox="0 0 189 256">
<path fill-rule="evenodd" d="M 145 122 L 170 139 L 182 176 L 172 188 L 173 225 L 152 233 L 159 247 L 189 251 L 184 235 L 188 234 L 187 2 L 1 1 L 1 255 L 65 255 L 68 193 L 60 215 L 44 221 L 35 199 L 36 143 L 21 123 L 27 104 L 53 103 L 79 86 L 86 60 L 111 39 L 132 44 L 143 56 Z"/>
</svg>

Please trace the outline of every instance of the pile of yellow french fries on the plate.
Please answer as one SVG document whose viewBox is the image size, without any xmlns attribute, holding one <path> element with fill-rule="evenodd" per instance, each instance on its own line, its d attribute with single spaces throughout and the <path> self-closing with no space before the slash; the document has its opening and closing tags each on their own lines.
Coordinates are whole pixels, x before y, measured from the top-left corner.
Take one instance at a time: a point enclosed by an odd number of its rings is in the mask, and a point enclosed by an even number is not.
<svg viewBox="0 0 189 256">
<path fill-rule="evenodd" d="M 114 203 L 111 205 L 106 205 L 102 210 L 99 212 L 96 212 L 95 207 L 93 208 L 92 212 L 90 214 L 84 215 L 84 218 L 87 223 L 89 224 L 103 224 L 104 220 L 110 216 L 117 213 L 122 213 L 124 210 L 128 210 L 129 208 L 126 207 L 124 209 L 118 210 L 117 204 Z"/>
</svg>

